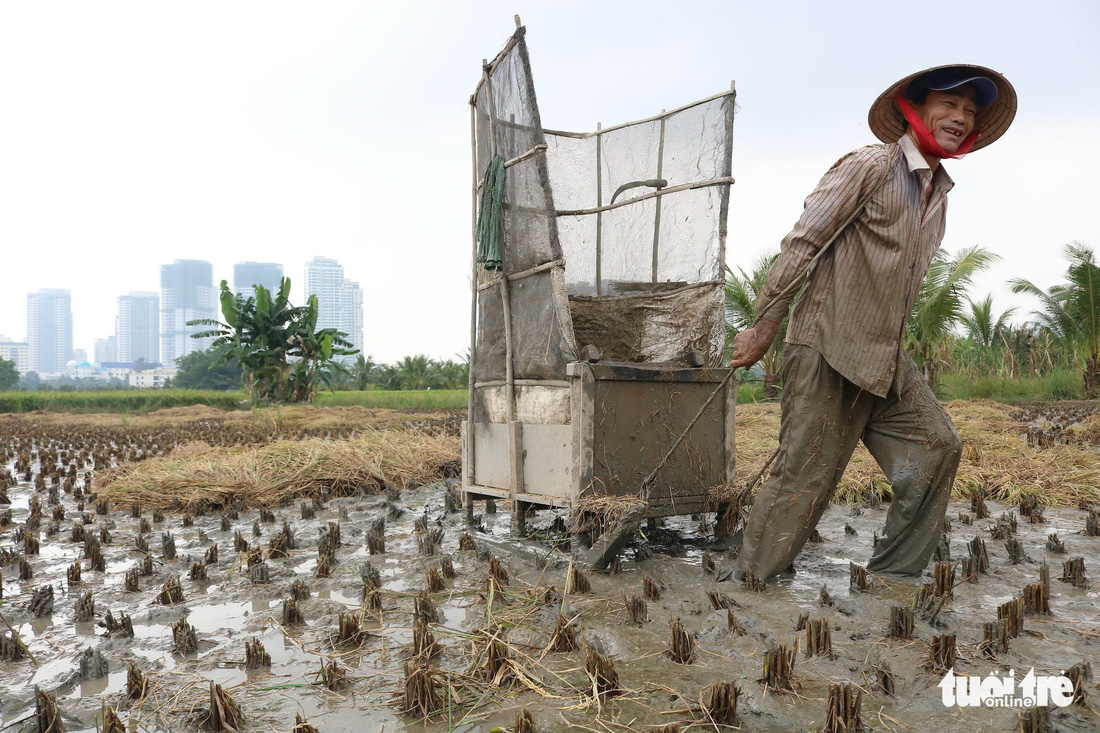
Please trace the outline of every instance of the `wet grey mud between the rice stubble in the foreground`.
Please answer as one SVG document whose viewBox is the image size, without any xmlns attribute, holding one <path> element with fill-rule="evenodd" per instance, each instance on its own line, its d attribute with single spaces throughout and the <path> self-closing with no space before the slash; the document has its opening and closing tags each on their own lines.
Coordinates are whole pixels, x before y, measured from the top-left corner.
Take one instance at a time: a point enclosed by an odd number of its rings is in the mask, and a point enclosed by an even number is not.
<svg viewBox="0 0 1100 733">
<path fill-rule="evenodd" d="M 18 721 L 33 713 L 35 687 L 56 693 L 69 731 L 96 730 L 102 702 L 118 707 L 121 718 L 138 730 L 200 730 L 209 680 L 240 705 L 245 731 L 289 731 L 295 715 L 326 732 L 405 726 L 487 731 L 510 727 L 522 709 L 539 731 L 651 730 L 671 723 L 682 730 L 714 730 L 708 724 L 710 694 L 712 686 L 723 682 L 739 690 L 741 730 L 821 729 L 829 687 L 843 682 L 862 691 L 862 722 L 878 730 L 1011 730 L 1019 710 L 944 707 L 936 687 L 943 672 L 931 663 L 935 637 L 955 635 L 956 674 L 1014 669 L 1022 676 L 1032 667 L 1036 674 L 1060 674 L 1082 661 L 1096 667 L 1100 659 L 1094 578 L 1084 587 L 1059 580 L 1063 562 L 1076 557 L 1084 558 L 1087 573 L 1100 575 L 1100 537 L 1085 534 L 1087 515 L 1078 507 L 1048 506 L 1041 524 L 1016 516 L 1010 532 L 1014 506 L 987 500 L 989 517 L 976 518 L 970 504 L 952 504 L 950 557 L 961 562 L 968 557 L 967 544 L 982 538 L 988 571 L 979 573 L 977 582 L 967 582 L 963 566 L 957 566 L 954 598 L 944 603 L 935 625 L 916 614 L 912 638 L 892 638 L 891 609 L 911 605 L 921 586 L 934 579 L 930 567 L 923 578 L 871 576 L 866 591 L 849 589 L 849 562 L 866 564 L 889 503 L 831 506 L 818 527 L 822 541 L 806 546 L 793 577 L 769 581 L 762 592 L 715 580 L 705 558 L 722 568 L 728 557 L 726 545 L 712 534 L 715 517 L 708 515 L 674 517 L 651 528 L 624 553 L 618 572 L 584 576 L 591 590 L 582 593 L 564 550 L 568 534 L 560 532 L 554 513 L 531 517 L 528 527 L 537 536 L 526 540 L 509 536 L 504 505 L 497 513 L 482 513 L 471 527 L 461 512 L 448 511 L 453 481 L 399 494 L 295 500 L 270 507 L 266 516 L 257 507 L 242 508 L 224 521 L 222 511 L 212 507 L 186 521 L 180 512 L 165 512 L 163 521 L 154 522 L 151 511 L 139 507 L 139 516 L 133 516 L 130 506 L 97 514 L 94 502 L 86 501 L 81 508 L 78 499 L 62 491 L 57 499 L 66 518 L 50 534 L 53 507 L 48 489 L 35 490 L 38 469 L 32 467 L 31 481 L 21 475 L 8 489 L 11 524 L 0 528 L 0 548 L 10 558 L 22 556 L 34 573 L 20 581 L 18 562 L 2 568 L 0 611 L 37 661 L 0 661 L 0 726 L 10 730 L 19 730 Z M 75 484 L 80 481 L 78 475 Z M 44 513 L 41 546 L 37 555 L 26 555 L 25 540 L 16 541 L 15 533 L 21 527 L 30 532 L 25 526 L 34 499 Z M 385 553 L 371 555 L 366 534 L 382 517 Z M 150 525 L 144 533 L 143 521 Z M 86 543 L 73 540 L 78 523 L 84 533 L 100 538 L 107 530 L 110 541 L 100 543 L 103 570 L 91 568 Z M 287 557 L 271 557 L 272 539 L 284 523 L 293 529 L 296 547 Z M 339 526 L 340 540 L 332 548 L 336 561 L 330 577 L 318 578 L 318 550 L 327 551 L 332 544 L 333 526 Z M 1008 537 L 994 539 L 994 529 Z M 428 547 L 432 543 L 426 537 L 438 537 L 440 530 L 439 547 Z M 165 533 L 175 547 L 170 559 Z M 1050 534 L 1060 538 L 1064 554 L 1048 549 Z M 148 551 L 138 549 L 139 535 Z M 1023 561 L 1013 564 L 1009 539 L 1019 543 Z M 248 550 L 241 540 L 249 544 Z M 191 580 L 193 566 L 206 560 L 213 546 L 218 558 L 206 565 L 206 578 Z M 264 553 L 267 582 L 252 581 L 249 557 L 256 549 Z M 425 554 L 431 549 L 435 554 Z M 138 591 L 127 591 L 127 571 L 146 556 L 153 558 L 152 575 L 139 577 Z M 420 593 L 429 570 L 442 570 L 444 558 L 454 577 L 441 572 L 442 590 L 427 597 L 437 611 L 427 628 L 438 653 L 425 667 L 441 709 L 422 720 L 404 714 L 402 708 L 407 676 L 416 667 L 415 616 L 431 615 Z M 70 584 L 67 572 L 76 562 L 81 565 L 80 580 Z M 1044 562 L 1053 615 L 1024 617 L 1023 631 L 1010 639 L 1008 650 L 988 655 L 981 648 L 983 623 L 997 621 L 999 606 L 1020 598 L 1025 586 L 1038 583 Z M 381 610 L 364 603 L 364 577 L 372 575 L 366 564 L 378 572 Z M 487 581 L 491 569 L 495 581 Z M 158 603 L 163 586 L 177 577 L 183 601 Z M 298 602 L 302 623 L 284 623 L 284 604 L 295 583 L 309 588 L 309 597 Z M 29 604 L 34 590 L 45 586 L 54 589 L 54 608 L 35 617 Z M 822 604 L 823 588 L 831 605 Z M 88 592 L 95 611 L 90 621 L 78 622 L 78 601 Z M 645 603 L 638 623 L 626 609 L 629 600 L 636 612 L 637 602 Z M 130 616 L 132 637 L 108 635 L 108 611 L 116 620 L 123 612 Z M 365 633 L 339 642 L 342 615 L 354 616 Z M 574 630 L 575 649 L 550 650 L 560 615 Z M 173 627 L 182 617 L 197 639 L 197 648 L 186 654 L 175 650 Z M 806 655 L 813 644 L 806 628 L 799 630 L 800 617 L 801 625 L 818 631 L 820 622 L 828 621 L 831 654 L 818 638 L 823 653 Z M 689 664 L 669 654 L 676 622 L 694 643 Z M 271 656 L 270 666 L 246 668 L 245 644 L 253 639 Z M 494 642 L 501 644 L 494 647 Z M 795 649 L 790 690 L 766 689 L 758 681 L 766 653 L 779 645 Z M 593 693 L 585 647 L 609 661 L 617 675 L 617 689 L 606 696 Z M 88 648 L 107 660 L 106 676 L 79 679 L 78 658 Z M 148 692 L 135 700 L 127 696 L 131 663 L 148 680 Z M 320 674 L 332 663 L 346 677 L 334 690 L 321 683 L 326 676 Z M 886 668 L 892 675 L 892 694 L 879 683 L 879 671 Z M 1087 705 L 1053 710 L 1055 730 L 1100 729 L 1094 680 L 1087 682 L 1086 691 Z"/>
</svg>

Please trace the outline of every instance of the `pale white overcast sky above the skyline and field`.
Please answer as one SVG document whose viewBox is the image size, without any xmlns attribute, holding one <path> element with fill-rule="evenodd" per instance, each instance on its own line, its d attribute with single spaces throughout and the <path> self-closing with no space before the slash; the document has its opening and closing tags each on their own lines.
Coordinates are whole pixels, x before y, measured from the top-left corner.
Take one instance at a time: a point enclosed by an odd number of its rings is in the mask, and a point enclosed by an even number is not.
<svg viewBox="0 0 1100 733">
<path fill-rule="evenodd" d="M 944 247 L 1003 260 L 978 280 L 1062 280 L 1100 248 L 1100 3 L 25 2 L 0 4 L 0 335 L 26 293 L 73 291 L 76 348 L 113 333 L 117 298 L 160 265 L 336 258 L 364 291 L 365 351 L 469 348 L 469 98 L 514 30 L 542 122 L 588 131 L 737 81 L 728 261 L 778 249 L 867 110 L 897 79 L 972 63 L 1020 111 L 948 162 Z"/>
</svg>

